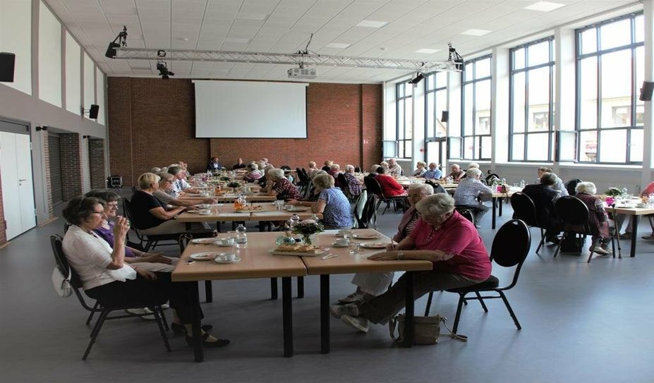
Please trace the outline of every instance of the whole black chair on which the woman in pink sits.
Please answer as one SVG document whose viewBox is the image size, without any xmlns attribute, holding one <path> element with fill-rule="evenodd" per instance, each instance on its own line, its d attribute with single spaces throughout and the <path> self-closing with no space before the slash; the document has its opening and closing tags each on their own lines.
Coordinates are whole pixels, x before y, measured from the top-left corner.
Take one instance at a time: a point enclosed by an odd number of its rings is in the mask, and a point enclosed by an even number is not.
<svg viewBox="0 0 654 383">
<path fill-rule="evenodd" d="M 495 261 L 497 265 L 502 267 L 515 267 L 513 279 L 511 283 L 504 287 L 499 287 L 499 279 L 496 276 L 489 276 L 488 279 L 476 284 L 473 286 L 467 286 L 462 288 L 451 288 L 447 290 L 448 293 L 457 293 L 459 294 L 459 305 L 456 308 L 456 317 L 454 317 L 454 326 L 452 327 L 452 332 L 456 334 L 456 329 L 459 328 L 459 320 L 461 319 L 461 308 L 463 308 L 464 303 L 467 305 L 468 300 L 478 300 L 483 308 L 484 312 L 488 312 L 484 300 L 485 299 L 497 299 L 501 298 L 504 301 L 504 305 L 507 306 L 509 315 L 513 318 L 514 323 L 518 329 L 522 329 L 518 318 L 511 309 L 509 305 L 509 300 L 504 294 L 504 291 L 510 290 L 518 282 L 518 276 L 520 275 L 520 269 L 522 268 L 523 262 L 525 261 L 527 254 L 529 253 L 529 248 L 531 248 L 531 234 L 529 233 L 529 228 L 520 219 L 511 219 L 506 224 L 502 225 L 495 234 L 495 238 L 492 241 L 492 247 L 490 250 L 490 261 Z M 480 293 L 485 292 L 495 292 L 498 295 L 495 296 L 482 296 Z M 473 297 L 466 297 L 469 293 L 475 293 Z M 429 309 L 432 301 L 433 293 L 429 293 L 429 298 L 427 302 L 427 310 L 425 310 L 425 316 L 429 315 Z"/>
</svg>

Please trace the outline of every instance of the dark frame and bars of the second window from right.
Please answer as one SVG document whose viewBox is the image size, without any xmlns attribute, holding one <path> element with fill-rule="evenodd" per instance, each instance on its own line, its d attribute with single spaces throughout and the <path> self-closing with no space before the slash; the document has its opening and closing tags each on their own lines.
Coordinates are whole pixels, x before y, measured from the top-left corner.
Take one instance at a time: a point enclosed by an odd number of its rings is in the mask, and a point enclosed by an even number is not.
<svg viewBox="0 0 654 383">
<path fill-rule="evenodd" d="M 541 44 L 543 42 L 550 42 L 550 59 L 547 61 L 547 63 L 540 63 L 537 65 L 529 66 L 529 47 L 536 45 L 536 44 Z M 525 49 L 524 51 L 524 66 L 523 68 L 516 69 L 515 68 L 515 54 L 516 51 L 519 51 L 520 49 Z M 554 57 L 554 36 L 549 36 L 549 37 L 544 37 L 542 39 L 537 39 L 532 42 L 528 42 L 526 44 L 521 44 L 518 45 L 517 47 L 513 47 L 509 49 L 509 162 L 552 162 L 552 147 L 554 145 L 554 80 L 555 80 L 555 73 L 554 73 L 554 68 L 555 68 L 555 57 Z M 547 118 L 548 118 L 548 123 L 547 123 L 547 159 L 528 159 L 528 138 L 530 134 L 543 134 L 545 133 L 544 131 L 529 131 L 529 72 L 530 71 L 535 71 L 540 68 L 550 68 L 550 81 L 548 84 L 548 92 L 549 92 L 549 99 L 550 101 L 547 103 Z M 514 100 L 515 100 L 515 95 L 514 95 L 514 75 L 517 73 L 524 73 L 525 79 L 525 87 L 524 87 L 524 92 L 525 92 L 525 105 L 524 105 L 524 130 L 522 132 L 514 132 Z M 541 112 L 543 113 L 543 112 Z M 514 139 L 516 135 L 523 135 L 523 158 L 522 159 L 514 159 L 513 158 L 513 147 L 514 147 Z"/>
</svg>

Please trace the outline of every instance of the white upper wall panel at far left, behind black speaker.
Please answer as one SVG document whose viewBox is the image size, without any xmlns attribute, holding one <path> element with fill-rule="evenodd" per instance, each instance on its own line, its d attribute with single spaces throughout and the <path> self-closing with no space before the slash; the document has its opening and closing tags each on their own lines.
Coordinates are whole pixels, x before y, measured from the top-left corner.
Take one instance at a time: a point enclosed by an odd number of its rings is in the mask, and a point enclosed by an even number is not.
<svg viewBox="0 0 654 383">
<path fill-rule="evenodd" d="M 0 51 L 16 54 L 13 87 L 32 94 L 32 2 L 0 0 Z"/>
</svg>

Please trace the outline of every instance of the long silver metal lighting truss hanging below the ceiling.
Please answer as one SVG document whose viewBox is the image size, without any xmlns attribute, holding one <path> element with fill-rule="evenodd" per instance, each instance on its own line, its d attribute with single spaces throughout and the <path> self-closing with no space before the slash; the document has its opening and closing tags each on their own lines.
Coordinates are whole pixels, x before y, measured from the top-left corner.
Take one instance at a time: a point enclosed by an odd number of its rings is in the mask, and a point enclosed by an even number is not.
<svg viewBox="0 0 654 383">
<path fill-rule="evenodd" d="M 452 61 L 413 61 L 372 57 L 328 56 L 183 49 L 116 48 L 115 59 L 164 61 L 218 61 L 228 63 L 272 63 L 298 66 L 345 66 L 349 68 L 401 69 L 404 71 L 459 71 Z"/>
</svg>

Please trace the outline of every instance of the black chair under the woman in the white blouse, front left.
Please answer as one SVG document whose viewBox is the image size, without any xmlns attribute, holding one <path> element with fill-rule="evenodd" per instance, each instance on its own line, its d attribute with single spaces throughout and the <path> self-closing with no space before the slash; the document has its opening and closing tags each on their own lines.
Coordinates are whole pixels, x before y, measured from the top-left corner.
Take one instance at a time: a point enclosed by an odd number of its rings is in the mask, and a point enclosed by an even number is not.
<svg viewBox="0 0 654 383">
<path fill-rule="evenodd" d="M 102 325 L 104 324 L 104 321 L 140 316 L 140 315 L 116 315 L 116 316 L 109 317 L 109 314 L 112 311 L 127 310 L 131 308 L 147 307 L 150 308 L 150 310 L 152 310 L 152 313 L 155 315 L 157 326 L 159 327 L 159 333 L 164 339 L 164 346 L 166 346 L 166 350 L 170 352 L 171 351 L 170 345 L 168 343 L 168 337 L 166 336 L 166 330 L 168 330 L 168 323 L 166 322 L 166 317 L 161 307 L 161 305 L 166 303 L 166 301 L 151 300 L 150 302 L 143 302 L 140 305 L 106 306 L 106 305 L 102 305 L 102 302 L 98 300 L 96 301 L 95 306 L 91 308 L 89 305 L 87 305 L 86 300 L 84 299 L 82 293 L 80 292 L 80 290 L 82 289 L 82 281 L 80 280 L 80 277 L 75 272 L 75 270 L 71 267 L 71 265 L 68 264 L 66 255 L 63 253 L 63 247 L 61 245 L 61 241 L 62 241 L 61 237 L 56 234 L 50 236 L 50 245 L 52 245 L 52 253 L 54 254 L 56 267 L 59 268 L 59 271 L 63 275 L 68 275 L 68 272 L 70 272 L 71 286 L 73 287 L 75 296 L 77 296 L 78 299 L 80 300 L 82 307 L 85 308 L 85 310 L 90 311 L 90 315 L 86 320 L 86 324 L 87 325 L 90 324 L 91 319 L 96 312 L 99 313 L 99 318 L 97 322 L 95 322 L 95 326 L 91 331 L 91 340 L 89 341 L 86 351 L 84 351 L 82 360 L 86 360 L 89 353 L 91 352 L 91 348 L 93 347 L 93 344 L 95 344 L 95 340 L 97 339 L 97 336 L 99 335 L 100 330 L 102 329 Z"/>
</svg>

